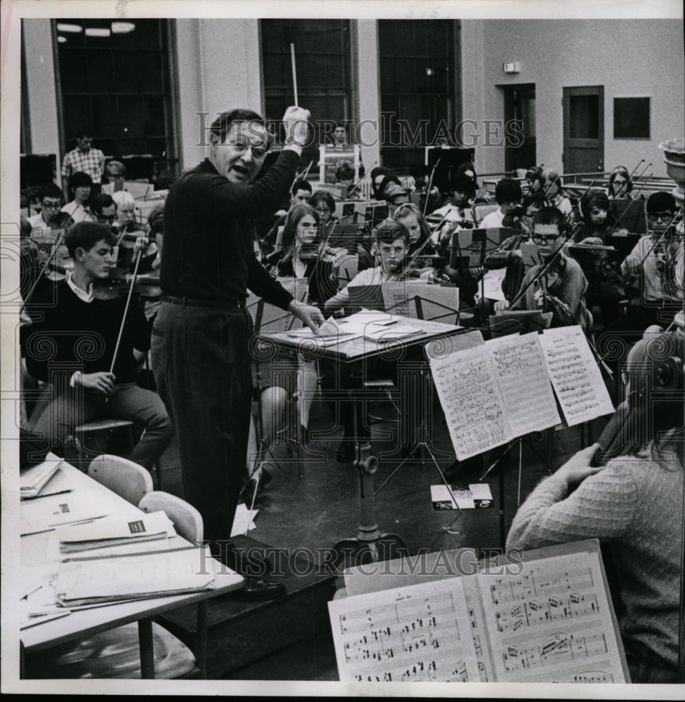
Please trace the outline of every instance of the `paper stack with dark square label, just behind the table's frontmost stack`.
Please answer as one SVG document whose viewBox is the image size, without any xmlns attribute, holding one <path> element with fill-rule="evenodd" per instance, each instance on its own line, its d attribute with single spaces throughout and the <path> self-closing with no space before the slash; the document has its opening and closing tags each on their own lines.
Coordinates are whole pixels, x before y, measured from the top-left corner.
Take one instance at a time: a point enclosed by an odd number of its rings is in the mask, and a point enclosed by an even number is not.
<svg viewBox="0 0 685 702">
<path fill-rule="evenodd" d="M 173 523 L 164 512 L 141 515 L 140 519 L 128 520 L 119 515 L 98 519 L 91 524 L 70 524 L 58 527 L 57 538 L 60 552 L 111 548 L 120 544 L 135 544 L 175 536 Z"/>
</svg>

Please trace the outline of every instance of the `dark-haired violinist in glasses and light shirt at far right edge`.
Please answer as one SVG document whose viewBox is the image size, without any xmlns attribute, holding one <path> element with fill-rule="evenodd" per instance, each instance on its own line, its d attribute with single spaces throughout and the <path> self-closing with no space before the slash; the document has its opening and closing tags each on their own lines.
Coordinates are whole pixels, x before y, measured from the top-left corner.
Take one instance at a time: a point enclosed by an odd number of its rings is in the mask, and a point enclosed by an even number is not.
<svg viewBox="0 0 685 702">
<path fill-rule="evenodd" d="M 650 324 L 672 321 L 682 309 L 683 236 L 673 224 L 677 212 L 670 192 L 654 192 L 647 200 L 649 236 L 641 237 L 621 264 L 631 305 L 625 329 L 642 331 Z"/>
</svg>

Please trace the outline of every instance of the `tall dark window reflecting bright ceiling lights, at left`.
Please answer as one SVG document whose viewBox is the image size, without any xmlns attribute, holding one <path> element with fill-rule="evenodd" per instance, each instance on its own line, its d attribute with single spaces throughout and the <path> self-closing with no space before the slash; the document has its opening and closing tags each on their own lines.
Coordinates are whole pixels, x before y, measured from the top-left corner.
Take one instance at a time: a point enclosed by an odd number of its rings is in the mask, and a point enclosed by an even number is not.
<svg viewBox="0 0 685 702">
<path fill-rule="evenodd" d="M 85 130 L 105 156 L 175 155 L 167 20 L 54 20 L 65 151 Z"/>
</svg>

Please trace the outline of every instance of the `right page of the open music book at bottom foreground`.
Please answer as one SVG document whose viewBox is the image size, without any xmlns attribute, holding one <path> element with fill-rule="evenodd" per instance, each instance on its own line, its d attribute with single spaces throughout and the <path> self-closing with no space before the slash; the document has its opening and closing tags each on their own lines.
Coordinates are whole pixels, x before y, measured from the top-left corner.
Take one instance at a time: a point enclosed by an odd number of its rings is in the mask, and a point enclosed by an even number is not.
<svg viewBox="0 0 685 702">
<path fill-rule="evenodd" d="M 598 552 L 477 582 L 498 682 L 625 682 Z"/>
</svg>

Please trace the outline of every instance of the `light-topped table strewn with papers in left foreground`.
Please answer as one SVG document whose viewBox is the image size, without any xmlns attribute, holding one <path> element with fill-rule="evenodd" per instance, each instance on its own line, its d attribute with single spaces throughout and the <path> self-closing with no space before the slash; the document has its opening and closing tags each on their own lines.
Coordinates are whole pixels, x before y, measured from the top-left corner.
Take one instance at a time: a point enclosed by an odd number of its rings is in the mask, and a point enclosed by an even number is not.
<svg viewBox="0 0 685 702">
<path fill-rule="evenodd" d="M 117 513 L 122 517 L 140 518 L 144 513 L 137 507 L 126 502 L 95 480 L 68 463 L 62 463 L 60 475 L 55 475 L 48 483 L 49 491 L 71 489 L 79 491 L 88 489 L 100 491 L 106 495 L 107 500 L 117 505 Z M 44 501 L 58 500 L 59 497 L 41 498 Z M 48 569 L 49 541 L 55 538 L 55 531 L 41 534 L 30 534 L 21 538 L 21 567 L 22 579 L 32 577 L 30 569 Z M 178 548 L 188 545 L 180 536 L 169 539 L 169 548 Z M 145 549 L 145 543 L 138 548 L 131 548 L 129 552 Z M 121 551 L 119 551 L 121 552 Z M 36 624 L 20 632 L 20 639 L 27 654 L 42 651 L 58 644 L 79 640 L 87 635 L 106 631 L 117 626 L 138 622 L 138 635 L 140 637 L 140 673 L 143 678 L 154 678 L 154 655 L 152 651 L 152 618 L 157 614 L 185 607 L 187 604 L 198 603 L 198 637 L 196 642 L 195 657 L 203 677 L 206 677 L 206 601 L 211 597 L 223 595 L 226 592 L 237 590 L 243 582 L 242 576 L 228 569 L 220 562 L 215 561 L 216 578 L 213 588 L 200 590 L 185 595 L 171 597 L 154 597 L 147 600 L 121 602 L 109 604 L 104 607 L 81 609 L 72 611 L 72 614 Z M 56 565 L 56 564 L 55 564 Z"/>
</svg>

